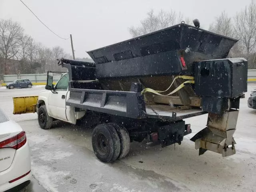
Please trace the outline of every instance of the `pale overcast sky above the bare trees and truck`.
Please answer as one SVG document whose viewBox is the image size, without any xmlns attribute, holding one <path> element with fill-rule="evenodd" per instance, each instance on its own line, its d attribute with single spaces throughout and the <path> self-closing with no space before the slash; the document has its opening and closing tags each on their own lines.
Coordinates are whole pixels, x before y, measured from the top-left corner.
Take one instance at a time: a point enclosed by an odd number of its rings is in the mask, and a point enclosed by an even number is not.
<svg viewBox="0 0 256 192">
<path fill-rule="evenodd" d="M 233 16 L 251 0 L 23 0 L 54 32 L 72 34 L 75 56 L 131 38 L 128 27 L 138 26 L 150 9 L 182 12 L 198 18 L 208 29 L 222 11 Z M 0 0 L 0 18 L 20 22 L 25 32 L 45 46 L 61 46 L 72 54 L 70 39 L 62 40 L 43 26 L 20 0 Z"/>
</svg>

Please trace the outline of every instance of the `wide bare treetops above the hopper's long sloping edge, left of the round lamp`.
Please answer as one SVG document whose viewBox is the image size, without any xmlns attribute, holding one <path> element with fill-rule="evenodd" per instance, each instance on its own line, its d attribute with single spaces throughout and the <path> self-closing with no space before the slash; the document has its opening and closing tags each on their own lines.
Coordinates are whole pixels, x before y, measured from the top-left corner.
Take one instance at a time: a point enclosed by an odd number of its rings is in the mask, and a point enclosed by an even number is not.
<svg viewBox="0 0 256 192">
<path fill-rule="evenodd" d="M 129 28 L 129 31 L 132 37 L 137 37 L 178 24 L 182 22 L 182 20 L 183 14 L 177 14 L 173 10 L 170 10 L 170 12 L 160 10 L 157 15 L 154 14 L 154 10 L 150 10 L 150 12 L 147 13 L 147 17 L 140 21 L 140 26 L 137 28 L 132 26 Z M 191 23 L 188 18 L 185 18 L 185 20 L 185 23 Z"/>
</svg>

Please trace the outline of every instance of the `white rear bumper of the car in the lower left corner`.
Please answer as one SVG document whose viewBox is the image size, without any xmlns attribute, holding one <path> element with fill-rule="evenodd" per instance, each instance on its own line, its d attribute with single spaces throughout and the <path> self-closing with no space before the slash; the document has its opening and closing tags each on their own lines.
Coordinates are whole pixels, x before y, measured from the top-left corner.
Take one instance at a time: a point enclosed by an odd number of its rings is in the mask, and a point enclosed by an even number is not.
<svg viewBox="0 0 256 192">
<path fill-rule="evenodd" d="M 30 151 L 28 142 L 22 148 L 16 150 L 12 165 L 0 172 L 0 191 L 12 189 L 24 182 L 31 180 L 31 165 L 30 165 Z M 23 176 L 25 175 L 25 176 Z M 19 178 L 23 176 L 22 178 Z M 9 183 L 10 181 L 19 178 L 18 180 Z"/>
</svg>

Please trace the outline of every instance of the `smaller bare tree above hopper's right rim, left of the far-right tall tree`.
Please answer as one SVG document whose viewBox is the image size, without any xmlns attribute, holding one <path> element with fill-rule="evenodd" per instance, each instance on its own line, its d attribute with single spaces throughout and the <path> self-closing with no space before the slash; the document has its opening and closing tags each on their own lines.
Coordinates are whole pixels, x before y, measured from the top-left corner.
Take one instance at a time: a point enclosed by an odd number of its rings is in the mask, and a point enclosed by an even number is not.
<svg viewBox="0 0 256 192">
<path fill-rule="evenodd" d="M 224 11 L 220 16 L 215 18 L 215 21 L 211 24 L 209 30 L 225 36 L 234 36 L 233 28 L 231 18 Z"/>
</svg>

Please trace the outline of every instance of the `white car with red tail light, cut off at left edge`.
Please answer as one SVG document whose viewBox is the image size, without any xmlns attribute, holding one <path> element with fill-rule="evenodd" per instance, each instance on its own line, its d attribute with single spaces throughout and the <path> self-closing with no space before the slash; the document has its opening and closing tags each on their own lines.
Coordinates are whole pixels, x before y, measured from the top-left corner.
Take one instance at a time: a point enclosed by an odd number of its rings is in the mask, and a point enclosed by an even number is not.
<svg viewBox="0 0 256 192">
<path fill-rule="evenodd" d="M 29 183 L 31 177 L 26 133 L 0 109 L 0 192 Z"/>
</svg>

